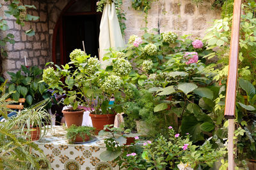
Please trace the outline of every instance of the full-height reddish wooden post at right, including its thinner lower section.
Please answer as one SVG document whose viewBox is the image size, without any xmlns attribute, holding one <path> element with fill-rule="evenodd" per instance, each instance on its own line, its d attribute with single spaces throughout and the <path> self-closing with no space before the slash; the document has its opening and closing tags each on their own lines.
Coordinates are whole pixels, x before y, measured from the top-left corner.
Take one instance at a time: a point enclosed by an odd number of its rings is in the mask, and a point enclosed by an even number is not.
<svg viewBox="0 0 256 170">
<path fill-rule="evenodd" d="M 239 53 L 239 28 L 241 0 L 234 0 L 232 32 L 230 41 L 225 118 L 228 118 L 228 170 L 234 170 L 234 118 L 236 109 L 237 62 Z"/>
</svg>

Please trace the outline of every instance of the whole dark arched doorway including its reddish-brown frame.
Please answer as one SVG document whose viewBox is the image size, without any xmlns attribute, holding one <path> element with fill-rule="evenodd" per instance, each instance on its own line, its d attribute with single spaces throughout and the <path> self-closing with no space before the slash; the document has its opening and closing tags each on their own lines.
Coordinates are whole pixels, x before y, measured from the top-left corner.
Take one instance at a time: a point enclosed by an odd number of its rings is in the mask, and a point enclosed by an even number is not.
<svg viewBox="0 0 256 170">
<path fill-rule="evenodd" d="M 66 64 L 69 54 L 79 48 L 99 57 L 99 26 L 101 13 L 96 11 L 97 0 L 71 0 L 61 11 L 52 36 L 52 61 Z"/>
</svg>

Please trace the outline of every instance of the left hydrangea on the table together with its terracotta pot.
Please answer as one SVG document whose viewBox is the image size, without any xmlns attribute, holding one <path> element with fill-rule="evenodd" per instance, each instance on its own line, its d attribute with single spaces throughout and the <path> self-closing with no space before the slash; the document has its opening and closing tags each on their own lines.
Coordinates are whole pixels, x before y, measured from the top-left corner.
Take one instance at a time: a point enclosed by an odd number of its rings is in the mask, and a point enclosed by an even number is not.
<svg viewBox="0 0 256 170">
<path fill-rule="evenodd" d="M 63 114 L 67 123 L 70 125 L 81 125 L 83 122 L 84 110 L 78 106 L 84 102 L 84 81 L 86 79 L 86 62 L 89 55 L 79 49 L 75 49 L 70 53 L 70 60 L 65 66 L 58 66 L 53 62 L 48 62 L 56 67 L 47 67 L 44 69 L 43 80 L 49 85 L 49 89 L 59 94 L 66 94 L 63 103 L 68 106 L 67 110 L 63 110 Z"/>
</svg>

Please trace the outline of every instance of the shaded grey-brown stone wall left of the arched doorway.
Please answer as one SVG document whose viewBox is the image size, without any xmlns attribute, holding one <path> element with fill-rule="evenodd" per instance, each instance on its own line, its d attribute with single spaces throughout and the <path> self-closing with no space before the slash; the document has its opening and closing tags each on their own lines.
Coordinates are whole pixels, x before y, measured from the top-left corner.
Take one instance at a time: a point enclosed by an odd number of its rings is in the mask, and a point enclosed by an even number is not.
<svg viewBox="0 0 256 170">
<path fill-rule="evenodd" d="M 21 65 L 25 65 L 24 56 L 26 55 L 28 66 L 44 67 L 45 62 L 51 60 L 49 45 L 49 27 L 48 27 L 48 11 L 45 1 L 24 0 L 24 4 L 33 4 L 36 10 L 28 10 L 28 13 L 40 16 L 39 20 L 33 22 L 25 22 L 24 27 L 15 23 L 15 18 L 6 18 L 9 31 L 4 34 L 12 33 L 15 36 L 15 44 L 8 43 L 6 50 L 8 57 L 3 60 L 4 71 L 17 71 Z M 4 10 L 7 6 L 4 6 Z M 3 11 L 1 11 L 3 13 Z M 2 15 L 3 16 L 3 15 Z M 35 30 L 35 36 L 26 36 L 25 31 L 29 29 Z M 9 76 L 5 73 L 4 76 Z"/>
</svg>

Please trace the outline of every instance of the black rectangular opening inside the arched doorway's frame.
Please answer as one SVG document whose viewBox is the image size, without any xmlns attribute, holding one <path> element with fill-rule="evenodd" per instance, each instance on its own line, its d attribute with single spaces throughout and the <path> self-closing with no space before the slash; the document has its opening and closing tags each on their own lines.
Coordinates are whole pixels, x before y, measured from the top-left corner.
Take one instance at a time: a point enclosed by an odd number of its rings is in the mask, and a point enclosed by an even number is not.
<svg viewBox="0 0 256 170">
<path fill-rule="evenodd" d="M 63 45 L 65 61 L 69 62 L 69 53 L 75 48 L 85 51 L 91 56 L 98 56 L 99 48 L 99 15 L 80 15 L 63 17 Z"/>
</svg>

